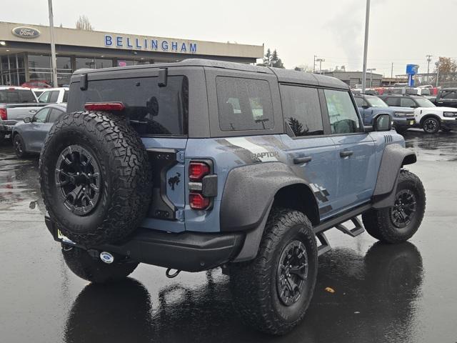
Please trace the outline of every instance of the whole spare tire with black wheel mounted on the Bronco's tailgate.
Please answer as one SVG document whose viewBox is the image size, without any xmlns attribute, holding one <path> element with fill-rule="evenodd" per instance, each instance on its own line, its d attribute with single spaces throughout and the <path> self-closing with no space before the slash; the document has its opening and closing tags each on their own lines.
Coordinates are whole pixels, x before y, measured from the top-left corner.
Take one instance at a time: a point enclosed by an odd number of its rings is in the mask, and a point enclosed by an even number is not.
<svg viewBox="0 0 457 343">
<path fill-rule="evenodd" d="M 151 166 L 139 135 L 121 116 L 64 114 L 39 161 L 41 195 L 58 229 L 85 247 L 129 235 L 151 200 Z"/>
</svg>

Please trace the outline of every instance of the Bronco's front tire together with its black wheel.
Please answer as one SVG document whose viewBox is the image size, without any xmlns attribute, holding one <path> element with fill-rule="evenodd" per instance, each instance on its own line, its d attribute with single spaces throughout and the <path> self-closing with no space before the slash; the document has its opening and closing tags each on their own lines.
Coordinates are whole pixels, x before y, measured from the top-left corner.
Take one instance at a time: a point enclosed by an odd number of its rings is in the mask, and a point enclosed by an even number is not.
<svg viewBox="0 0 457 343">
<path fill-rule="evenodd" d="M 411 172 L 401 170 L 395 205 L 363 213 L 363 225 L 368 234 L 381 242 L 405 242 L 421 226 L 425 209 L 426 192 L 421 179 Z"/>
</svg>

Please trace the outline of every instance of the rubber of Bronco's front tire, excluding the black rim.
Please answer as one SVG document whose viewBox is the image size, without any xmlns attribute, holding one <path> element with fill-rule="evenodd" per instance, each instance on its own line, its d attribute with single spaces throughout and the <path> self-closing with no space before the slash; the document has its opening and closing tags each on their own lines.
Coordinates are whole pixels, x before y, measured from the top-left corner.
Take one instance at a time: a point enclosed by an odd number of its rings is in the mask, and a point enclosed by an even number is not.
<svg viewBox="0 0 457 343">
<path fill-rule="evenodd" d="M 411 216 L 411 222 L 406 227 L 398 228 L 393 224 L 391 216 L 393 207 L 370 209 L 362 214 L 363 225 L 368 234 L 381 242 L 392 244 L 405 242 L 413 237 L 413 234 L 421 226 L 426 209 L 426 192 L 423 189 L 421 179 L 402 169 L 398 177 L 396 194 L 405 189 L 411 191 L 416 199 L 416 210 Z"/>
</svg>

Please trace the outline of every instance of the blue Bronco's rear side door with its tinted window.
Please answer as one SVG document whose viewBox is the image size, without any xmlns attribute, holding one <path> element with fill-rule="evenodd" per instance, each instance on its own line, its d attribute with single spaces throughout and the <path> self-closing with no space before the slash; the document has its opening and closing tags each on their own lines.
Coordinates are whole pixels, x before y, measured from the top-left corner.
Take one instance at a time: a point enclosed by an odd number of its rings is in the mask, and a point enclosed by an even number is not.
<svg viewBox="0 0 457 343">
<path fill-rule="evenodd" d="M 309 87 L 281 84 L 281 103 L 288 134 L 283 135 L 291 167 L 310 184 L 318 201 L 321 219 L 337 211 L 338 189 L 335 169 L 336 149 L 325 132 L 321 100 L 323 91 Z M 324 105 L 325 106 L 325 105 Z"/>
</svg>

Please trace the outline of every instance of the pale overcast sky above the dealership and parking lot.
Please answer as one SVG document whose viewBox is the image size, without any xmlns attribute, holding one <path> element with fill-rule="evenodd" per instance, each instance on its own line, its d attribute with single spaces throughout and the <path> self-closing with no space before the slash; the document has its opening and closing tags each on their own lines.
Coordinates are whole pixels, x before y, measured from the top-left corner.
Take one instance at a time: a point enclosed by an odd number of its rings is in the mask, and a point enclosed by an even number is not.
<svg viewBox="0 0 457 343">
<path fill-rule="evenodd" d="M 1 21 L 49 24 L 47 0 L 14 0 Z M 361 70 L 365 0 L 140 1 L 54 0 L 54 24 L 74 27 L 80 14 L 96 30 L 207 41 L 265 44 L 286 68 L 345 65 Z M 457 59 L 457 0 L 371 0 L 368 68 L 404 74 L 406 64 L 426 72 L 426 54 Z M 432 69 L 431 64 L 431 69 Z"/>
</svg>

